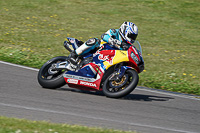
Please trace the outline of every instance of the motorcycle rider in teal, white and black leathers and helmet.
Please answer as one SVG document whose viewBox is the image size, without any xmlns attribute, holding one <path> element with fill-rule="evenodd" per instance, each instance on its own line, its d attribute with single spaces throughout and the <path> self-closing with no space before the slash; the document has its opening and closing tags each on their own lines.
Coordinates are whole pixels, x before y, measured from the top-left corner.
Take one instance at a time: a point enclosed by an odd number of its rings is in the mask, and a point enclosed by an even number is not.
<svg viewBox="0 0 200 133">
<path fill-rule="evenodd" d="M 127 50 L 132 43 L 136 40 L 138 35 L 138 28 L 132 22 L 124 22 L 119 29 L 110 29 L 106 33 L 101 35 L 101 39 L 111 44 L 112 47 L 118 49 Z M 94 50 L 100 46 L 100 40 L 97 38 L 91 38 L 75 51 L 71 52 L 70 62 L 73 65 L 77 64 L 77 57 L 84 55 L 85 53 Z"/>
</svg>

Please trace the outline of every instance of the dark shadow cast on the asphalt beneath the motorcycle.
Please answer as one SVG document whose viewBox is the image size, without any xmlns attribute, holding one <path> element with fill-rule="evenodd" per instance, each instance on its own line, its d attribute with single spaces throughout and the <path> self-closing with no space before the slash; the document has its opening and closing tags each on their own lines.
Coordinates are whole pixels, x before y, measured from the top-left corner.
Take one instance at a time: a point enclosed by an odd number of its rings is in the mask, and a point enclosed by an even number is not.
<svg viewBox="0 0 200 133">
<path fill-rule="evenodd" d="M 60 91 L 71 91 L 76 93 L 82 93 L 82 94 L 89 94 L 89 95 L 95 95 L 95 96 L 106 96 L 103 94 L 102 91 L 85 91 L 85 90 L 79 90 L 74 88 L 59 88 L 57 90 Z M 169 101 L 171 99 L 174 99 L 172 97 L 163 97 L 163 96 L 154 96 L 154 95 L 144 95 L 144 94 L 129 94 L 125 97 L 118 98 L 118 100 L 133 100 L 133 101 L 145 101 L 145 102 L 151 102 L 151 101 Z"/>
</svg>

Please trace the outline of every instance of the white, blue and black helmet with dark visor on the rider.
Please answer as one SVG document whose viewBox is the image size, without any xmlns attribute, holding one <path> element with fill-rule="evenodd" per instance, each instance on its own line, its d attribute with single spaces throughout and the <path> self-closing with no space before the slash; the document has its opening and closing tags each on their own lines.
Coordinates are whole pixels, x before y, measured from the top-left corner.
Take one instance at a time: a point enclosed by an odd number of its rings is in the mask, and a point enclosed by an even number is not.
<svg viewBox="0 0 200 133">
<path fill-rule="evenodd" d="M 138 28 L 132 22 L 124 22 L 119 28 L 119 33 L 127 43 L 133 44 L 138 35 Z"/>
</svg>

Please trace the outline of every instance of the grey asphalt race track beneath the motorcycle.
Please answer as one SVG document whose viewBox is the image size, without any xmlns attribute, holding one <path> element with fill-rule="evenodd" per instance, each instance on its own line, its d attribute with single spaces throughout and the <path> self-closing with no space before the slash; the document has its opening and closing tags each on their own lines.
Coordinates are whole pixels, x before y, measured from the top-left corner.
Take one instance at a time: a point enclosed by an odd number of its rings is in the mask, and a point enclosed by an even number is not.
<svg viewBox="0 0 200 133">
<path fill-rule="evenodd" d="M 43 89 L 38 69 L 0 61 L 0 115 L 141 133 L 199 133 L 200 99 L 137 87 L 121 99 L 67 85 Z"/>
</svg>

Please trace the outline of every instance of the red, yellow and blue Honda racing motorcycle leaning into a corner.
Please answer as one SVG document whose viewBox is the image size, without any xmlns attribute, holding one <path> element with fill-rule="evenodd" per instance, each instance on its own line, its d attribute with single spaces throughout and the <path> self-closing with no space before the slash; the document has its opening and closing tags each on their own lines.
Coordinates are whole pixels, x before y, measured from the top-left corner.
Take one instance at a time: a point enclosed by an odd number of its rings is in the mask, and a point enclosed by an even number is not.
<svg viewBox="0 0 200 133">
<path fill-rule="evenodd" d="M 64 47 L 72 52 L 79 40 L 67 38 Z M 110 98 L 120 98 L 131 93 L 144 70 L 141 45 L 135 41 L 126 50 L 119 50 L 103 42 L 97 51 L 82 57 L 73 68 L 69 56 L 58 56 L 47 61 L 38 72 L 38 82 L 43 88 L 69 87 L 89 91 L 103 91 Z"/>
</svg>

